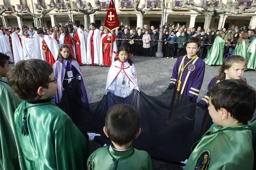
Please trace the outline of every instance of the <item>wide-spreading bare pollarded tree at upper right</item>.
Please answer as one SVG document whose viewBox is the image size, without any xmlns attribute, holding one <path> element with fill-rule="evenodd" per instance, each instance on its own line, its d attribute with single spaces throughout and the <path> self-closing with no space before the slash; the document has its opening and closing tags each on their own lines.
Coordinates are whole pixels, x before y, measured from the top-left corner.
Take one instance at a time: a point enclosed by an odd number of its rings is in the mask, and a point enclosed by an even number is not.
<svg viewBox="0 0 256 170">
<path fill-rule="evenodd" d="M 189 10 L 193 10 L 198 12 L 201 15 L 204 15 L 205 21 L 204 21 L 204 29 L 210 27 L 212 18 L 219 16 L 220 14 L 224 13 L 232 13 L 232 14 L 242 14 L 242 13 L 251 13 L 256 11 L 256 1 L 252 3 L 252 6 L 250 9 L 246 9 L 247 7 L 245 5 L 240 5 L 237 9 L 238 2 L 233 2 L 232 0 L 228 0 L 227 4 L 223 4 L 220 1 L 219 9 L 216 9 L 215 7 L 216 0 L 209 0 L 210 7 L 207 7 L 205 4 L 205 0 L 200 0 L 199 4 L 196 4 L 194 0 L 182 0 L 182 6 L 180 7 L 170 7 L 167 9 L 175 10 L 180 8 L 187 8 Z"/>
</svg>

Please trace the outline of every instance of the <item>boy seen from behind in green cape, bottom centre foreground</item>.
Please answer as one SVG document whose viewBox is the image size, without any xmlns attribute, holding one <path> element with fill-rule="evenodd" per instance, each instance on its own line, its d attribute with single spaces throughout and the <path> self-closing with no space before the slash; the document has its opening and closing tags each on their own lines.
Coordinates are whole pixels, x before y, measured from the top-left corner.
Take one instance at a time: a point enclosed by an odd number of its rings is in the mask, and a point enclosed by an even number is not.
<svg viewBox="0 0 256 170">
<path fill-rule="evenodd" d="M 103 131 L 112 144 L 92 152 L 87 170 L 153 170 L 148 152 L 132 147 L 141 131 L 140 115 L 135 108 L 126 104 L 111 107 Z"/>
</svg>

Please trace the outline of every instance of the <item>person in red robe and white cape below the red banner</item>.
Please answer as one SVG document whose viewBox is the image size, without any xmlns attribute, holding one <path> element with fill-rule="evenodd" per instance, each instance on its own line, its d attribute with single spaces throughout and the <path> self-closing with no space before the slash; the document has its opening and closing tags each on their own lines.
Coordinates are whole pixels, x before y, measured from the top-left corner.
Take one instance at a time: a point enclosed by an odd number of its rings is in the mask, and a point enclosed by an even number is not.
<svg viewBox="0 0 256 170">
<path fill-rule="evenodd" d="M 105 66 L 111 66 L 112 61 L 112 53 L 113 53 L 113 42 L 115 41 L 115 35 L 109 33 L 108 29 L 104 29 L 104 34 L 101 36 L 101 46 L 100 49 L 100 57 L 103 55 L 103 63 Z M 116 44 L 114 44 L 116 45 Z"/>
</svg>

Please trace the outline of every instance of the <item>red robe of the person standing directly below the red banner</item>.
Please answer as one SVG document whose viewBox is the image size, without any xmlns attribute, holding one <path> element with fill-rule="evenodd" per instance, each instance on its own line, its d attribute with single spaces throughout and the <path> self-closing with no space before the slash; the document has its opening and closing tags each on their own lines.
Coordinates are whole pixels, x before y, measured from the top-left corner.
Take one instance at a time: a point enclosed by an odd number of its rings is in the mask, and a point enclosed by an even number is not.
<svg viewBox="0 0 256 170">
<path fill-rule="evenodd" d="M 111 48 L 111 41 L 108 41 L 108 38 L 112 39 L 112 48 Z M 113 41 L 115 41 L 115 35 L 112 34 L 112 36 L 105 36 L 102 39 L 102 54 L 103 54 L 103 61 L 105 66 L 111 66 L 111 59 L 110 54 L 113 53 Z M 110 51 L 111 49 L 111 51 Z"/>
</svg>

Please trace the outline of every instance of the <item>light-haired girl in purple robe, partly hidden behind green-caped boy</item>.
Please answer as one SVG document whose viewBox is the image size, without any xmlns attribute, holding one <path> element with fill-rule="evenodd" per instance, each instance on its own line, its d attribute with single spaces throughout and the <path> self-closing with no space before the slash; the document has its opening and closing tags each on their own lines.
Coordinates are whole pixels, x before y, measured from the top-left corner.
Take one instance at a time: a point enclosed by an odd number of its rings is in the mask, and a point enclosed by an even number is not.
<svg viewBox="0 0 256 170">
<path fill-rule="evenodd" d="M 231 55 L 226 58 L 220 67 L 219 75 L 212 78 L 207 88 L 208 92 L 197 105 L 200 107 L 208 107 L 211 87 L 222 80 L 241 79 L 244 75 L 245 65 L 246 61 L 244 57 L 240 55 Z"/>
</svg>

